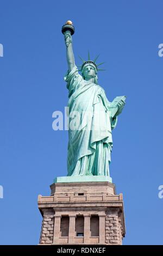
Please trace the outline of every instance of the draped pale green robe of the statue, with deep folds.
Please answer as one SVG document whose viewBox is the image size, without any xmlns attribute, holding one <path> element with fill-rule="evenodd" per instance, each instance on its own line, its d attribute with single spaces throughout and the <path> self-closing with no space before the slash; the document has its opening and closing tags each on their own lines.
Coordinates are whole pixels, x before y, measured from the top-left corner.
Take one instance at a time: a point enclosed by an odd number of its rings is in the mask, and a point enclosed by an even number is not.
<svg viewBox="0 0 163 256">
<path fill-rule="evenodd" d="M 110 117 L 110 102 L 105 91 L 98 84 L 85 81 L 77 66 L 67 71 L 65 81 L 69 90 L 68 176 L 110 176 L 111 130 L 116 126 L 117 117 Z"/>
</svg>

